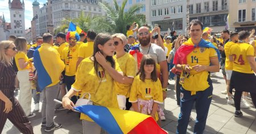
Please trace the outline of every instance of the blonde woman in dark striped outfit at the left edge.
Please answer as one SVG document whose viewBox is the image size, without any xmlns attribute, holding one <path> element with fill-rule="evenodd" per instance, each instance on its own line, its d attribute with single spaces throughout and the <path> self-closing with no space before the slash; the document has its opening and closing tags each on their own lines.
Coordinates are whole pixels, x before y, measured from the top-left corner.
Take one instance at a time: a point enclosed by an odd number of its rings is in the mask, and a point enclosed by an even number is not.
<svg viewBox="0 0 256 134">
<path fill-rule="evenodd" d="M 14 97 L 14 81 L 16 74 L 11 61 L 16 55 L 17 49 L 13 41 L 0 42 L 0 133 L 9 119 L 22 133 L 33 133 L 30 121 L 26 117 L 22 107 Z"/>
</svg>

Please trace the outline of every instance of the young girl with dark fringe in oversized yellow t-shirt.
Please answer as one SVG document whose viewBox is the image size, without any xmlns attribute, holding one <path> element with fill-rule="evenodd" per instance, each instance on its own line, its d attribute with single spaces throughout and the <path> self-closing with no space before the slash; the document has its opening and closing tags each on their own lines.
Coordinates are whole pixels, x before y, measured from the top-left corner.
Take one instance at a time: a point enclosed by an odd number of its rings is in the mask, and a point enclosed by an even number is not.
<svg viewBox="0 0 256 134">
<path fill-rule="evenodd" d="M 163 103 L 161 82 L 156 76 L 156 64 L 150 55 L 144 55 L 139 69 L 139 75 L 134 78 L 131 85 L 129 102 L 132 109 L 142 114 L 152 116 L 156 121 L 159 119 L 159 104 Z"/>
</svg>

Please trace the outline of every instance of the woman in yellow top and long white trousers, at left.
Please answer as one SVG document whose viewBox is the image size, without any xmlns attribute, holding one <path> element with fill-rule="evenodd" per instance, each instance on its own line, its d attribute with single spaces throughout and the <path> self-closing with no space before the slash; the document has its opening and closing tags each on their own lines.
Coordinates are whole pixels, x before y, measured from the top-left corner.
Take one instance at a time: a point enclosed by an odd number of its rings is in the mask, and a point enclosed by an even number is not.
<svg viewBox="0 0 256 134">
<path fill-rule="evenodd" d="M 15 40 L 18 53 L 15 55 L 15 62 L 18 68 L 17 78 L 19 80 L 19 102 L 28 118 L 36 114 L 31 112 L 32 81 L 30 81 L 30 72 L 32 71 L 32 58 L 27 57 L 27 40 L 24 37 L 18 37 Z"/>
</svg>

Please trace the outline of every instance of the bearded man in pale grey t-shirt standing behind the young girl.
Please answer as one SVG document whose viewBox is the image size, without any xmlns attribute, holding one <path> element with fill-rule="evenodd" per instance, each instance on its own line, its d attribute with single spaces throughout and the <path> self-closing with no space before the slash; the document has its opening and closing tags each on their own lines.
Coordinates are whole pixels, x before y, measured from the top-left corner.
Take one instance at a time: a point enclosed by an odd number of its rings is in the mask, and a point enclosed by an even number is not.
<svg viewBox="0 0 256 134">
<path fill-rule="evenodd" d="M 156 44 L 151 44 L 151 33 L 148 27 L 141 27 L 138 30 L 137 37 L 139 39 L 139 51 L 143 55 L 150 55 L 156 61 L 156 71 L 158 73 L 158 78 L 161 79 L 163 99 L 166 99 L 167 83 L 168 83 L 168 67 L 166 55 L 161 47 Z M 164 106 L 162 107 L 162 110 Z M 161 117 L 160 117 L 161 118 Z M 163 116 L 164 118 L 164 116 Z M 164 120 L 161 118 L 161 120 Z"/>
</svg>

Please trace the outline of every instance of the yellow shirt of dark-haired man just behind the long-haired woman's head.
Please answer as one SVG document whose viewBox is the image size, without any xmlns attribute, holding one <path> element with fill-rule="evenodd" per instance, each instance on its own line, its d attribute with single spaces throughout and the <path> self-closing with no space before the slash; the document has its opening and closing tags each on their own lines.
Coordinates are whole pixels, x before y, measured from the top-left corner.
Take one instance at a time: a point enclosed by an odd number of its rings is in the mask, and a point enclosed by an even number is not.
<svg viewBox="0 0 256 134">
<path fill-rule="evenodd" d="M 87 58 L 93 55 L 94 42 L 81 44 L 78 52 L 78 57 Z"/>
</svg>

